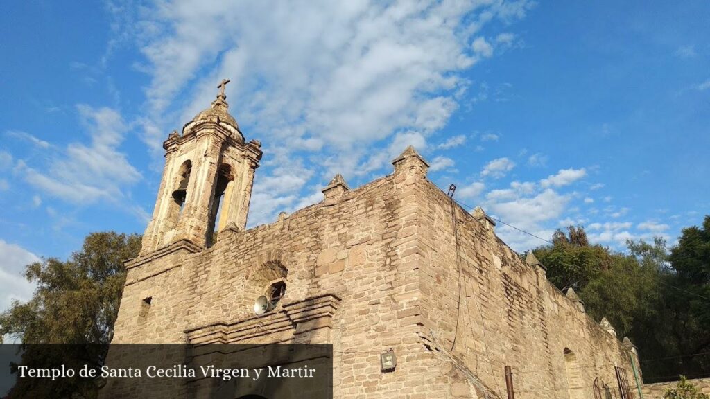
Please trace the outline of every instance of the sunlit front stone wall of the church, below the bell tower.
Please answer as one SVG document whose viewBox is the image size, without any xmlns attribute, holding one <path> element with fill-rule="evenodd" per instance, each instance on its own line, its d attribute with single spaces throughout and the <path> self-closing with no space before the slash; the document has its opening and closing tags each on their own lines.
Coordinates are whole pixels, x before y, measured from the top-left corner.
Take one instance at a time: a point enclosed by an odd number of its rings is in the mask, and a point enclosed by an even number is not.
<svg viewBox="0 0 710 399">
<path fill-rule="evenodd" d="M 416 204 L 395 180 L 384 177 L 274 224 L 226 229 L 212 248 L 182 244 L 132 261 L 114 342 L 184 342 L 185 332 L 253 319 L 253 301 L 268 283 L 259 270 L 277 263 L 288 270 L 284 306 L 324 293 L 339 298 L 332 328 L 240 342 L 332 342 L 337 398 L 443 398 L 430 390 L 449 378 L 422 378 L 418 364 L 432 356 L 415 334 L 418 275 L 400 268 L 414 247 L 408 217 Z M 380 354 L 389 349 L 400 363 L 382 373 Z"/>
</svg>

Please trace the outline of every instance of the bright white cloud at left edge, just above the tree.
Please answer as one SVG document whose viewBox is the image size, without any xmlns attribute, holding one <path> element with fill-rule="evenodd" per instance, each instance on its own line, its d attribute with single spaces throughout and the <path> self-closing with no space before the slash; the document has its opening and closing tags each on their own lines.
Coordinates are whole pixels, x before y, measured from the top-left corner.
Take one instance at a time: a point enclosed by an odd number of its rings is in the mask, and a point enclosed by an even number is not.
<svg viewBox="0 0 710 399">
<path fill-rule="evenodd" d="M 34 253 L 17 244 L 0 240 L 0 312 L 6 310 L 13 300 L 26 301 L 32 297 L 34 285 L 24 277 L 24 267 L 40 261 Z"/>
</svg>

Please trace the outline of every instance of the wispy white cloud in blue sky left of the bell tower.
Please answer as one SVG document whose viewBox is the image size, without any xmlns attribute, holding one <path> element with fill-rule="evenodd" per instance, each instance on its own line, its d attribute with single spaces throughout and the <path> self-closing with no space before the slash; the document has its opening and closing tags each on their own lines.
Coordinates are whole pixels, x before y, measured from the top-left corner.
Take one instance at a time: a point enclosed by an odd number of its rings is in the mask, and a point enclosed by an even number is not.
<svg viewBox="0 0 710 399">
<path fill-rule="evenodd" d="M 124 198 L 121 187 L 131 185 L 141 174 L 118 151 L 126 133 L 121 115 L 109 108 L 77 107 L 91 143 L 71 143 L 50 160 L 46 172 L 21 163 L 26 180 L 48 195 L 79 204 Z"/>
</svg>

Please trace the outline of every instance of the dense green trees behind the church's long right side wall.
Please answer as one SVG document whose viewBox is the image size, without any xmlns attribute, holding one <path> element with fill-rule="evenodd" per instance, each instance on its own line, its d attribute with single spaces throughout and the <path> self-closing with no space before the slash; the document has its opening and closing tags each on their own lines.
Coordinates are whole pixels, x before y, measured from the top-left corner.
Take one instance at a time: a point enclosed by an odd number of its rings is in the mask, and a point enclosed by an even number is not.
<svg viewBox="0 0 710 399">
<path fill-rule="evenodd" d="M 590 245 L 584 229 L 571 226 L 534 251 L 557 288 L 574 287 L 591 317 L 606 317 L 638 346 L 645 381 L 665 381 L 710 373 L 710 356 L 697 355 L 710 351 L 709 231 L 706 218 L 704 229 L 684 229 L 670 254 L 660 238 L 627 241 L 621 253 Z"/>
</svg>

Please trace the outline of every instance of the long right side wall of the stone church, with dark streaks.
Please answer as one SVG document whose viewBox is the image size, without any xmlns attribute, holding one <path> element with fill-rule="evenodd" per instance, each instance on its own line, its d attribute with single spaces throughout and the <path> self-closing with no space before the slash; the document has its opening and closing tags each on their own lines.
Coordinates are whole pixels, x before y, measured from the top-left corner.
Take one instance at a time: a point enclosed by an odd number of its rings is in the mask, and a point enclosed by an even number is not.
<svg viewBox="0 0 710 399">
<path fill-rule="evenodd" d="M 438 336 L 439 346 L 501 396 L 504 366 L 512 368 L 516 396 L 525 398 L 593 398 L 595 378 L 616 386 L 615 365 L 633 382 L 630 348 L 549 283 L 544 269 L 526 264 L 491 223 L 431 182 L 422 180 L 417 192 L 425 339 Z"/>
</svg>

